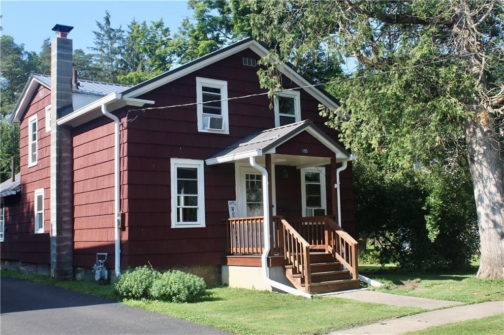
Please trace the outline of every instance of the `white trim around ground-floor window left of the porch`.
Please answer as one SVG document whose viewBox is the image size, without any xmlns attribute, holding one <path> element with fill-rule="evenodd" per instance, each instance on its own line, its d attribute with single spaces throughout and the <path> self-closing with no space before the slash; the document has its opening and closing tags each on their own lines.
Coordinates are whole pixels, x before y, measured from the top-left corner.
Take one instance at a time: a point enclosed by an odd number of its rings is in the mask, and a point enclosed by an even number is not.
<svg viewBox="0 0 504 335">
<path fill-rule="evenodd" d="M 205 227 L 205 161 L 202 159 L 170 159 L 171 174 L 171 227 Z M 196 167 L 198 169 L 198 222 L 177 222 L 177 167 Z"/>
</svg>

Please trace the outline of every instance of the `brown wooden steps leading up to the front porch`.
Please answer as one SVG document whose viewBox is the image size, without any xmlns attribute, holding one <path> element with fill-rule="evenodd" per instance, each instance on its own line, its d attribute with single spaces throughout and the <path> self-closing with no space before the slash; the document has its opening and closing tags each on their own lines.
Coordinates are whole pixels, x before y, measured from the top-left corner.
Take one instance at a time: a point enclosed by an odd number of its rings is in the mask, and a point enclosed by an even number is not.
<svg viewBox="0 0 504 335">
<path fill-rule="evenodd" d="M 310 251 L 310 283 L 306 286 L 305 278 L 285 266 L 285 275 L 299 290 L 309 293 L 328 293 L 359 288 L 359 279 L 352 279 L 348 270 L 342 270 L 341 263 L 333 255 Z"/>
</svg>

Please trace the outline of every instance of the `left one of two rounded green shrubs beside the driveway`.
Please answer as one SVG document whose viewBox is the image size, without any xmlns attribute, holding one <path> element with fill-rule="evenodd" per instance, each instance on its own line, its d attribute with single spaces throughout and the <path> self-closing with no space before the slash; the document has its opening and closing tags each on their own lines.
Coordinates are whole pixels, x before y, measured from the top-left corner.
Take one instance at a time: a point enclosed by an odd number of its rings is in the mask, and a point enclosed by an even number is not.
<svg viewBox="0 0 504 335">
<path fill-rule="evenodd" d="M 152 283 L 159 272 L 147 265 L 123 272 L 115 282 L 115 291 L 126 298 L 148 298 Z"/>
</svg>

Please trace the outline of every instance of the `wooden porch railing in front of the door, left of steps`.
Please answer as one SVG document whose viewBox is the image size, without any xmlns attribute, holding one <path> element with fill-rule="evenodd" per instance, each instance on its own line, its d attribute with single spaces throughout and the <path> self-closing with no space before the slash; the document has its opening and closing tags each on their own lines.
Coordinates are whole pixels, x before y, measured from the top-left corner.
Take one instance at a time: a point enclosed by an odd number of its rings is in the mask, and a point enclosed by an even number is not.
<svg viewBox="0 0 504 335">
<path fill-rule="evenodd" d="M 280 255 L 279 227 L 281 216 L 273 217 L 271 253 Z M 227 249 L 230 255 L 260 255 L 264 249 L 264 216 L 227 219 Z"/>
</svg>

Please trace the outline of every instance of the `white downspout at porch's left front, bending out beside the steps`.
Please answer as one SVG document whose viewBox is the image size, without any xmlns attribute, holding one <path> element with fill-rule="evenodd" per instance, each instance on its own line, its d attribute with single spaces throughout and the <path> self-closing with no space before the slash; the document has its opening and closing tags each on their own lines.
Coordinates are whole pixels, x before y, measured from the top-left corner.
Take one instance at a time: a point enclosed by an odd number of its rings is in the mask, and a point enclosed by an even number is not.
<svg viewBox="0 0 504 335">
<path fill-rule="evenodd" d="M 297 290 L 293 287 L 287 286 L 285 284 L 276 282 L 272 279 L 270 279 L 270 274 L 269 274 L 269 269 L 268 269 L 268 255 L 270 253 L 270 197 L 269 197 L 269 183 L 268 183 L 268 171 L 261 165 L 259 165 L 256 162 L 256 157 L 250 157 L 250 165 L 253 166 L 256 170 L 259 170 L 261 174 L 263 175 L 263 212 L 264 212 L 264 223 L 263 223 L 263 230 L 264 230 L 264 251 L 263 255 L 261 256 L 261 269 L 263 273 L 263 279 L 264 281 L 270 285 L 271 287 L 277 288 L 281 291 L 294 294 L 294 295 L 300 295 L 306 298 L 312 298 L 313 295 Z"/>
</svg>

